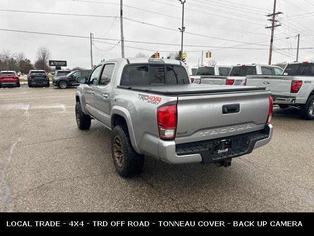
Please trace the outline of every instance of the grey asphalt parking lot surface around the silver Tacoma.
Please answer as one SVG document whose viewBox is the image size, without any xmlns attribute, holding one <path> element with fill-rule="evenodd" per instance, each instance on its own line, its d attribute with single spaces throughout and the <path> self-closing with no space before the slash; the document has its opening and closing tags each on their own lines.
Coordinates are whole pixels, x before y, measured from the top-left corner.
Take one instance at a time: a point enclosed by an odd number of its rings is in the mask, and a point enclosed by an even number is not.
<svg viewBox="0 0 314 236">
<path fill-rule="evenodd" d="M 75 91 L 0 89 L 0 211 L 314 211 L 314 120 L 296 109 L 276 107 L 272 141 L 229 168 L 147 157 L 124 179 L 110 131 L 78 129 Z"/>
</svg>

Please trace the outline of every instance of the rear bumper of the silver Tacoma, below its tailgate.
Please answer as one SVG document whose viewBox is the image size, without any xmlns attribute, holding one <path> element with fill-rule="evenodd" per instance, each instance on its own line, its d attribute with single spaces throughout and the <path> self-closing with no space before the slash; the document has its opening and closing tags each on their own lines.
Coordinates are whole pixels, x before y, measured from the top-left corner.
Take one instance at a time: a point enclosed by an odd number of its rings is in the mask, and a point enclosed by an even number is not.
<svg viewBox="0 0 314 236">
<path fill-rule="evenodd" d="M 273 126 L 268 124 L 264 130 L 221 138 L 220 140 L 233 140 L 232 149 L 222 153 L 213 151 L 214 142 L 219 140 L 206 140 L 180 145 L 176 145 L 175 141 L 159 140 L 158 154 L 162 161 L 170 164 L 221 162 L 251 153 L 254 148 L 262 147 L 269 143 L 272 134 Z"/>
</svg>

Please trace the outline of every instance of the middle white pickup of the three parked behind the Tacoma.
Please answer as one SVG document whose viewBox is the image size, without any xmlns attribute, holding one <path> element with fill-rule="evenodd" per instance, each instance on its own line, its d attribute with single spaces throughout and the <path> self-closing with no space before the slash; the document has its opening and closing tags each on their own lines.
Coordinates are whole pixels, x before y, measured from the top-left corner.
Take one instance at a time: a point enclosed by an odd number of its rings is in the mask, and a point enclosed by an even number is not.
<svg viewBox="0 0 314 236">
<path fill-rule="evenodd" d="M 205 76 L 196 84 L 245 85 L 247 75 L 282 75 L 283 69 L 276 65 L 243 64 L 232 67 L 229 76 Z"/>
</svg>

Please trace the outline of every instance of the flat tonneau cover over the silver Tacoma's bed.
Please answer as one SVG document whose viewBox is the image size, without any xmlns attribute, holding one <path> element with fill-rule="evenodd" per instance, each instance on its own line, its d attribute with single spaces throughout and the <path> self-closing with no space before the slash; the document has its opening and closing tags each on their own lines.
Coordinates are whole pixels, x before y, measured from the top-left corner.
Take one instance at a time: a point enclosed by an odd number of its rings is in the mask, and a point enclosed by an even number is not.
<svg viewBox="0 0 314 236">
<path fill-rule="evenodd" d="M 255 86 L 223 86 L 223 85 L 154 85 L 154 86 L 136 86 L 126 87 L 117 86 L 119 89 L 128 89 L 141 92 L 162 94 L 167 96 L 180 95 L 198 95 L 198 94 L 221 94 L 221 93 L 238 93 L 238 92 L 256 92 L 266 90 L 265 87 Z"/>
</svg>

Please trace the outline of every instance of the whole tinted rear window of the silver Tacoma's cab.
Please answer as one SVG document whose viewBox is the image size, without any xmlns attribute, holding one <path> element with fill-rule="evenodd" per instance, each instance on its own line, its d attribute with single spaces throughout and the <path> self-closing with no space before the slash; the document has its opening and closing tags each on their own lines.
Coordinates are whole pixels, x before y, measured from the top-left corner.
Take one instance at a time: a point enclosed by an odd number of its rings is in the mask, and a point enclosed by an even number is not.
<svg viewBox="0 0 314 236">
<path fill-rule="evenodd" d="M 183 66 L 167 64 L 137 64 L 124 68 L 120 85 L 145 86 L 162 84 L 189 84 Z"/>
</svg>

